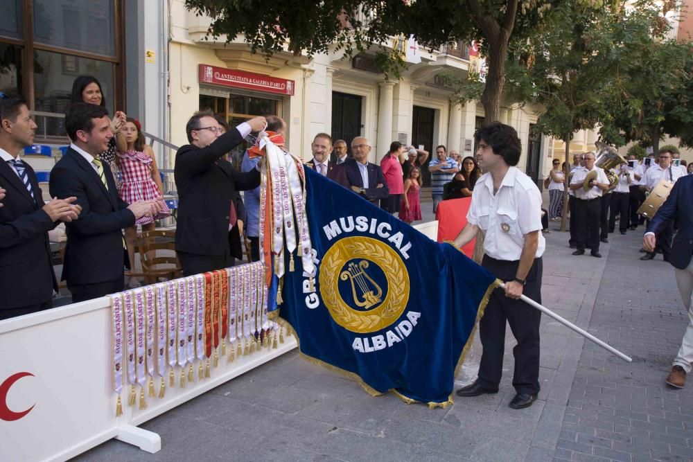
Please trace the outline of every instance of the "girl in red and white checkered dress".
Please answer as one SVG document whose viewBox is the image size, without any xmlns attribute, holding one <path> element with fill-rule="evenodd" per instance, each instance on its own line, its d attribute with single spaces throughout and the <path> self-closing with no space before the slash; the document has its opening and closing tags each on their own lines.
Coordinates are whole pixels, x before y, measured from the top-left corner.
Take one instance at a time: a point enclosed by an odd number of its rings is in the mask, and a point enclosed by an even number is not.
<svg viewBox="0 0 693 462">
<path fill-rule="evenodd" d="M 161 205 L 161 212 L 155 217 L 141 217 L 134 226 L 125 229 L 130 269 L 134 269 L 134 242 L 137 239 L 137 225 L 142 226 L 142 231 L 154 231 L 154 220 L 167 217 L 170 215 L 170 210 L 163 199 L 164 185 L 161 184 L 154 151 L 145 143 L 139 121 L 128 117 L 121 131 L 128 143 L 128 150 L 118 152 L 116 158 L 122 179 L 119 187 L 121 199 L 128 204 L 141 200 L 159 199 L 159 205 Z"/>
</svg>

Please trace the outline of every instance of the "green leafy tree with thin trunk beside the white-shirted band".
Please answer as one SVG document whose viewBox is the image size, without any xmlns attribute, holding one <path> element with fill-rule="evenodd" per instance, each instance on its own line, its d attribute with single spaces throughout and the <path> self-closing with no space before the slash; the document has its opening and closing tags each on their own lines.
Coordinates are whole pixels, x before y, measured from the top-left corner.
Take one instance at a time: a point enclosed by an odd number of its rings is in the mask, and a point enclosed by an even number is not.
<svg viewBox="0 0 693 462">
<path fill-rule="evenodd" d="M 649 26 L 637 10 L 568 1 L 554 10 L 544 28 L 512 51 L 509 90 L 518 100 L 544 108 L 538 128 L 565 143 L 567 165 L 574 132 L 592 129 L 605 118 L 606 96 L 616 85 L 620 63 L 649 35 Z M 568 181 L 562 231 L 567 216 Z"/>
</svg>

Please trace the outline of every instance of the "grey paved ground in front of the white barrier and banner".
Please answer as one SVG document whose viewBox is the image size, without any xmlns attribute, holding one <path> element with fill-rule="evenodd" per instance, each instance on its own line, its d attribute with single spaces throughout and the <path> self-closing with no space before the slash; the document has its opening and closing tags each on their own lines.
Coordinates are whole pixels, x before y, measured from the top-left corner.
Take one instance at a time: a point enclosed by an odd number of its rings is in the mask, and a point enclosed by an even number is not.
<svg viewBox="0 0 693 462">
<path fill-rule="evenodd" d="M 508 407 L 509 329 L 500 392 L 456 398 L 447 409 L 371 398 L 289 353 L 142 425 L 161 435 L 161 452 L 109 441 L 78 459 L 692 460 L 693 385 L 672 391 L 663 382 L 687 316 L 672 267 L 638 260 L 640 236 L 614 236 L 597 259 L 570 256 L 567 233 L 546 235 L 544 304 L 633 364 L 543 317 L 542 391 L 528 409 Z M 477 338 L 458 385 L 474 379 L 480 353 Z"/>
</svg>

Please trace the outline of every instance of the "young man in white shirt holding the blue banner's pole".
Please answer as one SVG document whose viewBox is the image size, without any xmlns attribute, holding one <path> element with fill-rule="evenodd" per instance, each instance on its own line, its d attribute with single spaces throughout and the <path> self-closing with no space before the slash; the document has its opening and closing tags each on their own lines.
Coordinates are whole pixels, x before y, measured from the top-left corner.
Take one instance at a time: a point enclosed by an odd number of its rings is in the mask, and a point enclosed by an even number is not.
<svg viewBox="0 0 693 462">
<path fill-rule="evenodd" d="M 502 281 L 505 294 L 491 294 L 479 323 L 484 348 L 477 380 L 457 390 L 457 396 L 498 393 L 505 352 L 506 322 L 518 341 L 513 348 L 516 396 L 509 406 L 529 407 L 539 392 L 539 323 L 541 312 L 520 301 L 525 294 L 541 301 L 541 193 L 534 181 L 520 172 L 520 139 L 513 127 L 492 123 L 475 135 L 477 161 L 486 173 L 478 179 L 467 213 L 467 225 L 455 238 L 462 247 L 486 232 L 482 266 Z M 541 303 L 541 302 L 540 302 Z"/>
</svg>

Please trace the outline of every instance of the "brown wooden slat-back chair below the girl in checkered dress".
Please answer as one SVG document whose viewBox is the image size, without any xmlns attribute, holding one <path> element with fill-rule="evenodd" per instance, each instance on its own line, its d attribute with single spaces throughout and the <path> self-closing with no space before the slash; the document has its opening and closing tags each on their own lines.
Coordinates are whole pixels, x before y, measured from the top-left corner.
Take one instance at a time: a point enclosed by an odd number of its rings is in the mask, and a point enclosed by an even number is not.
<svg viewBox="0 0 693 462">
<path fill-rule="evenodd" d="M 142 265 L 141 273 L 130 276 L 144 277 L 145 284 L 179 278 L 182 269 L 175 253 L 175 230 L 146 231 L 137 236 L 137 251 Z"/>
</svg>

